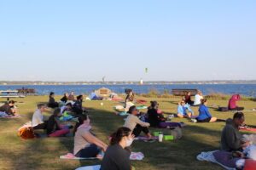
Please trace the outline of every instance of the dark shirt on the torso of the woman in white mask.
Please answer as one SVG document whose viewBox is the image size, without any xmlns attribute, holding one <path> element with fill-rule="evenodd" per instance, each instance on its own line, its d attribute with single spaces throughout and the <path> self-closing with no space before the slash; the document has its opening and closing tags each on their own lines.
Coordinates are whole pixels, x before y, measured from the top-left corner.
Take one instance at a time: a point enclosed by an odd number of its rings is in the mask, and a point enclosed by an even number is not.
<svg viewBox="0 0 256 170">
<path fill-rule="evenodd" d="M 109 145 L 102 160 L 101 170 L 131 170 L 131 152 L 119 144 Z"/>
</svg>

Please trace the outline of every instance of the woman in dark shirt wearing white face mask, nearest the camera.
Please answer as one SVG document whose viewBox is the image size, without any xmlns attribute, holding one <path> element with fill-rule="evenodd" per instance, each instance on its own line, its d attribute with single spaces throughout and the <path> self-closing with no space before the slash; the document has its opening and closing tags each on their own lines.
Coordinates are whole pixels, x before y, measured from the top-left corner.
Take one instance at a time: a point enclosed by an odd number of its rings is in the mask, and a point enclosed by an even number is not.
<svg viewBox="0 0 256 170">
<path fill-rule="evenodd" d="M 102 160 L 101 170 L 131 170 L 130 155 L 131 151 L 127 149 L 132 144 L 134 135 L 131 129 L 119 127 L 111 135 L 110 145 Z"/>
</svg>

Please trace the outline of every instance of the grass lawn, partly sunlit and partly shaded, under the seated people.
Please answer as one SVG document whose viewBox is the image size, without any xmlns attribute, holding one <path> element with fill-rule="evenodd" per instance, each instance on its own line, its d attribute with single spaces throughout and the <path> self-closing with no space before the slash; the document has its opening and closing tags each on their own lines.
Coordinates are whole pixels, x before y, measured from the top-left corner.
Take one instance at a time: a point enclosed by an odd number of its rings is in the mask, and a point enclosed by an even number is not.
<svg viewBox="0 0 256 170">
<path fill-rule="evenodd" d="M 61 96 L 56 96 L 60 99 Z M 138 97 L 137 99 L 150 98 Z M 176 113 L 177 102 L 180 98 L 157 98 L 160 102 L 160 109 L 167 114 Z M 152 99 L 153 100 L 153 99 Z M 155 100 L 155 99 L 154 99 Z M 0 101 L 3 101 L 0 100 Z M 73 150 L 73 138 L 45 138 L 21 140 L 17 135 L 17 129 L 32 118 L 32 113 L 36 105 L 41 102 L 47 102 L 48 96 L 28 96 L 25 99 L 17 99 L 20 109 L 20 115 L 26 117 L 1 119 L 0 120 L 0 169 L 75 169 L 76 167 L 96 165 L 101 161 L 77 161 L 60 160 L 59 156 Z M 107 137 L 118 127 L 124 124 L 123 116 L 114 115 L 113 106 L 120 105 L 119 102 L 103 101 L 85 101 L 84 106 L 90 108 L 90 119 L 92 130 L 96 136 L 106 143 Z M 208 105 L 227 105 L 226 100 L 209 99 Z M 245 106 L 246 109 L 256 107 L 255 101 L 241 101 L 238 105 Z M 197 108 L 192 109 L 198 114 Z M 144 110 L 145 111 L 145 110 Z M 233 116 L 232 112 L 218 112 L 211 108 L 213 116 L 226 119 Z M 51 110 L 45 111 L 44 115 L 49 116 Z M 246 123 L 253 125 L 255 123 L 255 112 L 245 112 Z M 221 129 L 224 122 L 216 123 L 192 123 L 185 119 L 173 119 L 173 122 L 185 122 L 188 126 L 183 128 L 183 138 L 177 141 L 164 141 L 163 143 L 144 143 L 135 141 L 132 151 L 142 151 L 145 155 L 143 161 L 131 161 L 137 170 L 163 170 L 163 169 L 222 169 L 218 165 L 207 161 L 197 161 L 195 156 L 201 151 L 218 150 Z M 254 124 L 255 125 L 255 124 Z M 159 129 L 150 128 L 151 132 Z M 167 129 L 163 129 L 166 134 Z"/>
</svg>

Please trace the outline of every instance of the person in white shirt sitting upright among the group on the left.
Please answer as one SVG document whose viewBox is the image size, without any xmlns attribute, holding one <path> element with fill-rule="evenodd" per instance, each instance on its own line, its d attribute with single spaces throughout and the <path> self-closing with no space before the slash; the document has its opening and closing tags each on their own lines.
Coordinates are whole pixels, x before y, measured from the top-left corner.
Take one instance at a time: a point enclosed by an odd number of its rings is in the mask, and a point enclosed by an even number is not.
<svg viewBox="0 0 256 170">
<path fill-rule="evenodd" d="M 39 104 L 37 111 L 33 113 L 32 116 L 32 127 L 33 129 L 44 129 L 45 123 L 44 123 L 44 116 L 43 112 L 46 109 L 46 105 Z"/>
</svg>

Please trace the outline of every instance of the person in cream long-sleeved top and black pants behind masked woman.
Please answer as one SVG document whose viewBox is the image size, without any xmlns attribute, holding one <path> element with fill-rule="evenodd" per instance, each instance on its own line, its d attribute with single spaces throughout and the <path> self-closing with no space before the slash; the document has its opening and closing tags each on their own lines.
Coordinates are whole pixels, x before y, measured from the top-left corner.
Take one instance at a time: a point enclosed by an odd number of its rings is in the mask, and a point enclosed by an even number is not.
<svg viewBox="0 0 256 170">
<path fill-rule="evenodd" d="M 139 114 L 135 105 L 131 106 L 128 113 L 130 114 L 126 120 L 124 127 L 128 127 L 131 129 L 132 134 L 135 137 L 138 137 L 140 133 L 143 131 L 148 137 L 148 139 L 152 139 L 151 134 L 149 133 L 148 127 L 150 124 L 148 122 L 141 121 L 137 115 Z"/>
</svg>

